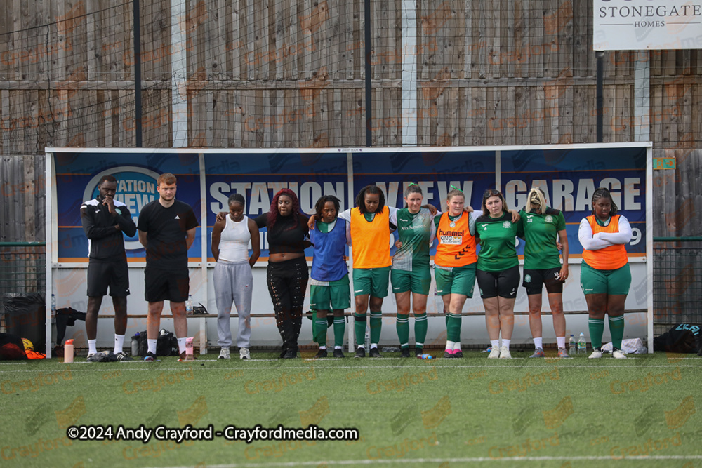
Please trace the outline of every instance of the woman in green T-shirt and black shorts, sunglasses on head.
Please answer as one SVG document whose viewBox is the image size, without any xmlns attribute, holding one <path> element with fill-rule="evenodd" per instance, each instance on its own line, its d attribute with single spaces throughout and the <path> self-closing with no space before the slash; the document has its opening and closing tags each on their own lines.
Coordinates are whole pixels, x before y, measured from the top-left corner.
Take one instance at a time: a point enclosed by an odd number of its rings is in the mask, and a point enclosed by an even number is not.
<svg viewBox="0 0 702 468">
<path fill-rule="evenodd" d="M 480 243 L 476 278 L 485 307 L 490 337 L 489 359 L 511 359 L 510 341 L 515 328 L 515 298 L 519 288 L 519 258 L 515 236 L 523 237 L 520 222 L 513 222 L 499 190 L 488 189 L 482 198 L 483 214 L 475 220 Z M 499 346 L 502 335 L 502 346 Z"/>
</svg>

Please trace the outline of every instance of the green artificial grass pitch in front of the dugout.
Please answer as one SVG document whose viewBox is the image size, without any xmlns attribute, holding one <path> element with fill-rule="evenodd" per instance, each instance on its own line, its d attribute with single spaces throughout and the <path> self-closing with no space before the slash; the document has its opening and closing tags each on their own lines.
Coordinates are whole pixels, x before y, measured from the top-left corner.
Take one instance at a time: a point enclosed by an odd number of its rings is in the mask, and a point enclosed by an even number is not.
<svg viewBox="0 0 702 468">
<path fill-rule="evenodd" d="M 554 352 L 551 352 L 552 354 Z M 0 363 L 0 466 L 702 467 L 702 358 Z M 547 352 L 548 355 L 548 352 Z M 357 441 L 81 441 L 67 427 L 357 429 Z M 97 434 L 97 432 L 95 432 Z M 86 435 L 88 431 L 86 431 Z M 113 435 L 114 438 L 114 435 Z"/>
</svg>

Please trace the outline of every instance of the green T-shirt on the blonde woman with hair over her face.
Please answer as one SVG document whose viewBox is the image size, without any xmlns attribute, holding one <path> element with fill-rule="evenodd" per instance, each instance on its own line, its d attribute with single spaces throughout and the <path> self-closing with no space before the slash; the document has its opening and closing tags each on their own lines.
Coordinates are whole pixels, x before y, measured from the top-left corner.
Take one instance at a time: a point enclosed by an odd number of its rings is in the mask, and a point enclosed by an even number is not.
<svg viewBox="0 0 702 468">
<path fill-rule="evenodd" d="M 560 268 L 561 260 L 556 246 L 558 232 L 566 228 L 560 210 L 546 207 L 546 214 L 519 212 L 524 229 L 524 269 Z"/>
</svg>

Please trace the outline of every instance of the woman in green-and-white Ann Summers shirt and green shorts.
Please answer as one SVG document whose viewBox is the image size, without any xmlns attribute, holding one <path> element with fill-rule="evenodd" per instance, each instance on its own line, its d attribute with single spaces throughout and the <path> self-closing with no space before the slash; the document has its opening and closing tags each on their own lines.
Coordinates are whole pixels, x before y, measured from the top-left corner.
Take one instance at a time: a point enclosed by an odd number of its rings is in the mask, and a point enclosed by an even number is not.
<svg viewBox="0 0 702 468">
<path fill-rule="evenodd" d="M 397 252 L 392 258 L 390 281 L 397 302 L 397 337 L 402 357 L 409 358 L 410 295 L 414 312 L 414 355 L 423 354 L 427 336 L 427 297 L 432 283 L 429 270 L 429 240 L 434 215 L 422 208 L 422 188 L 414 183 L 404 191 L 406 208 L 397 210 Z M 436 213 L 436 212 L 435 212 Z"/>
</svg>

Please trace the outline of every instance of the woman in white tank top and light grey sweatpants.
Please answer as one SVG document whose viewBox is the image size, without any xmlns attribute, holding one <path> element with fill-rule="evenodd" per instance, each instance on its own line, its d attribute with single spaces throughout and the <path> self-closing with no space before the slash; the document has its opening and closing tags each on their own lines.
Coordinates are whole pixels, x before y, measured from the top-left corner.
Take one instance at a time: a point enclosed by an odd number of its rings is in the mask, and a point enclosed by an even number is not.
<svg viewBox="0 0 702 468">
<path fill-rule="evenodd" d="M 230 196 L 229 215 L 215 222 L 212 229 L 212 255 L 217 262 L 213 280 L 217 304 L 217 344 L 220 345 L 218 359 L 230 359 L 232 303 L 237 306 L 239 314 L 239 359 L 251 359 L 251 267 L 260 255 L 260 239 L 256 222 L 244 216 L 245 203 L 241 194 Z"/>
</svg>

